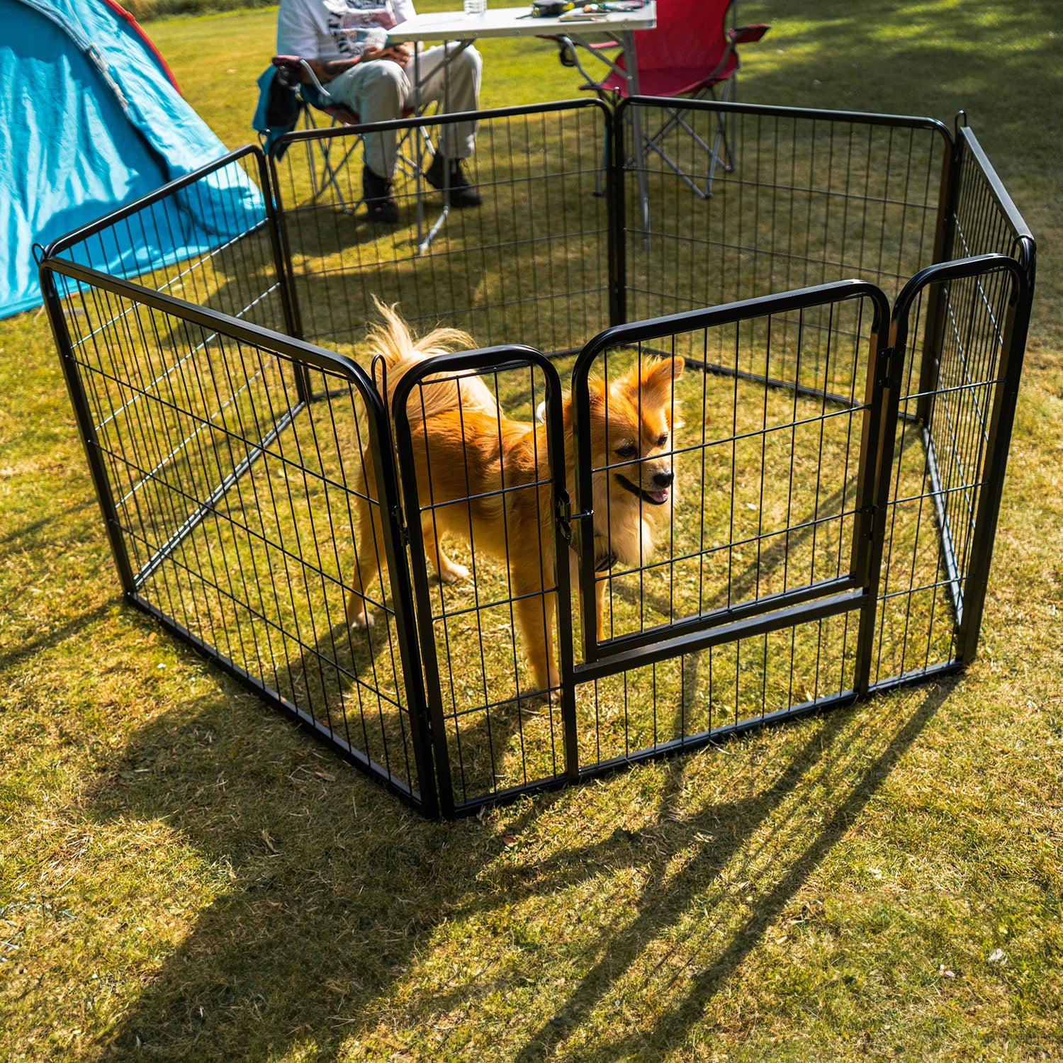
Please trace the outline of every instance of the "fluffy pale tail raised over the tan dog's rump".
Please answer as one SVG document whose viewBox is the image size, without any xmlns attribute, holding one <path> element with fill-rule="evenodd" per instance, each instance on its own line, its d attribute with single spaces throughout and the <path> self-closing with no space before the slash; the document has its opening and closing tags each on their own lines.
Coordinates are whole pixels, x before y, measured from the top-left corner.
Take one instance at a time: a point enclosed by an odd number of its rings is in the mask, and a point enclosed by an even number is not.
<svg viewBox="0 0 1063 1063">
<path fill-rule="evenodd" d="M 476 347 L 475 340 L 460 328 L 434 328 L 425 336 L 415 338 L 409 326 L 395 313 L 394 305 L 386 306 L 375 296 L 373 303 L 384 322 L 373 325 L 368 338 L 374 348 L 372 353 L 382 355 L 387 367 L 387 393 L 384 400 L 389 409 L 395 385 L 414 366 L 454 350 L 471 350 Z M 439 378 L 440 374 L 432 373 L 425 377 L 425 382 L 436 382 Z M 415 422 L 459 408 L 479 410 L 492 417 L 499 412 L 494 394 L 478 376 L 472 374 L 461 374 L 460 381 L 449 378 L 440 383 L 426 383 L 416 394 L 410 395 L 408 412 L 410 422 Z"/>
</svg>

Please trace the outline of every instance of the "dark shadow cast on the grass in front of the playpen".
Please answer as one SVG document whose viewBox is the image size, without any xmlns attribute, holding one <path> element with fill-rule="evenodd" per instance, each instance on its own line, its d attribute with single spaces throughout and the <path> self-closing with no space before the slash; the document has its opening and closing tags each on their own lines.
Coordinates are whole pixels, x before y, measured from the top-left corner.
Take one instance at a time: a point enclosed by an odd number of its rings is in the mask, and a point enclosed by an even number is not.
<svg viewBox="0 0 1063 1063">
<path fill-rule="evenodd" d="M 673 761 L 658 778 L 656 808 L 640 813 L 634 829 L 609 833 L 615 817 L 604 826 L 591 819 L 575 844 L 558 846 L 549 810 L 578 806 L 589 791 L 525 803 L 504 817 L 505 836 L 490 820 L 425 822 L 271 710 L 250 697 L 234 705 L 222 687 L 210 704 L 145 727 L 125 756 L 151 770 L 132 784 L 108 780 L 96 794 L 102 819 L 166 817 L 195 859 L 227 866 L 231 882 L 166 959 L 102 1058 L 306 1050 L 333 1059 L 351 1039 L 372 1043 L 382 1031 L 389 1050 L 462 1058 L 474 1048 L 463 1020 L 499 1007 L 500 995 L 530 992 L 496 1040 L 496 1058 L 532 1061 L 594 1023 L 607 997 L 631 998 L 632 989 L 639 998 L 656 990 L 648 995 L 657 1010 L 612 1024 L 615 1039 L 600 1034 L 580 1058 L 656 1058 L 660 1046 L 681 1042 L 762 941 L 949 689 L 898 701 L 892 713 L 879 703 L 881 729 L 837 710 L 790 730 L 788 750 L 779 750 L 786 755 L 773 755 L 762 784 L 741 796 L 689 797 L 694 764 L 705 772 L 709 757 L 709 773 L 728 771 L 733 758 L 709 750 Z M 512 847 L 513 838 L 540 844 Z M 520 919 L 528 905 L 549 908 L 552 898 L 624 873 L 641 876 L 638 897 L 604 931 L 580 938 L 559 923 L 542 959 L 526 960 L 516 944 L 501 961 L 482 959 L 482 921 Z M 470 977 L 454 966 L 452 975 L 455 942 L 467 933 L 474 944 L 458 957 L 462 966 L 477 961 L 486 969 Z M 486 952 L 497 949 L 495 938 Z M 537 994 L 562 956 L 578 975 L 558 1005 Z M 522 971 L 525 962 L 545 963 L 547 973 Z M 401 1045 L 399 1037 L 415 1040 Z"/>
</svg>

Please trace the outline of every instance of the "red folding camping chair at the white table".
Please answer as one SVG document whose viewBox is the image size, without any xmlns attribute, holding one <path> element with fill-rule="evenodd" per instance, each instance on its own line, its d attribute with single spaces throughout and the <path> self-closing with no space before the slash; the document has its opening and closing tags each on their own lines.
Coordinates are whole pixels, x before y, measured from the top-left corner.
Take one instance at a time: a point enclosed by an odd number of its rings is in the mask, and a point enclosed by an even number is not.
<svg viewBox="0 0 1063 1063">
<path fill-rule="evenodd" d="M 731 27 L 727 27 L 728 11 Z M 580 62 L 580 49 L 569 37 L 561 37 L 560 58 L 567 66 L 575 66 L 587 81 L 585 88 L 602 97 L 660 96 L 686 99 L 735 98 L 739 69 L 738 46 L 760 40 L 770 27 L 763 23 L 738 26 L 736 0 L 657 0 L 657 27 L 631 35 L 635 63 L 622 53 L 609 55 L 609 49 L 620 47 L 618 41 L 585 46 L 583 53 L 593 55 L 607 67 L 605 77 L 596 80 Z M 583 44 L 580 41 L 580 44 Z M 718 97 L 716 92 L 720 90 Z M 712 195 L 712 181 L 718 166 L 725 172 L 735 168 L 731 140 L 727 136 L 727 122 L 718 115 L 715 135 L 709 144 L 687 121 L 680 106 L 668 108 L 667 120 L 654 133 L 632 130 L 634 148 L 641 140 L 643 165 L 649 154 L 656 153 L 702 199 Z M 707 167 L 702 175 L 691 175 L 675 162 L 664 148 L 664 138 L 675 129 L 685 130 L 705 153 Z"/>
</svg>

